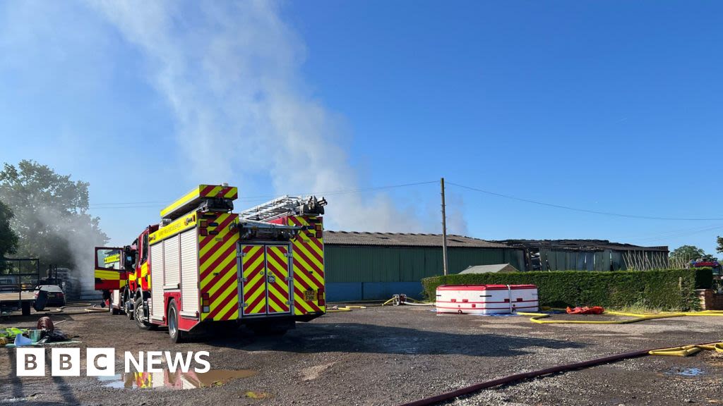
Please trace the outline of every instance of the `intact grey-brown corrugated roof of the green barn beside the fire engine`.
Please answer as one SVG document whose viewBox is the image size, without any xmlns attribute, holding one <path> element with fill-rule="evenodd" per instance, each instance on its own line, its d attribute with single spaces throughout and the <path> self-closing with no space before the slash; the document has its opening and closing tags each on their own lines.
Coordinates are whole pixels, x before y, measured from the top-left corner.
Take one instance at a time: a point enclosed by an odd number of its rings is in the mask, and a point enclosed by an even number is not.
<svg viewBox="0 0 723 406">
<path fill-rule="evenodd" d="M 324 244 L 331 246 L 442 246 L 441 234 L 413 233 L 360 233 L 356 231 L 324 231 Z M 447 236 L 448 247 L 461 248 L 507 248 L 501 243 L 491 243 L 465 236 Z"/>
</svg>

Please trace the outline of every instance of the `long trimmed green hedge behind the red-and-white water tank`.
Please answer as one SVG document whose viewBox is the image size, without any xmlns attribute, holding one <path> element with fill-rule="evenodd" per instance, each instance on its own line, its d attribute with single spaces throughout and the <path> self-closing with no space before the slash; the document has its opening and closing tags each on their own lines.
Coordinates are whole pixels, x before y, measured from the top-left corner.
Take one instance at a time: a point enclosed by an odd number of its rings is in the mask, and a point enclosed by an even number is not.
<svg viewBox="0 0 723 406">
<path fill-rule="evenodd" d="M 641 306 L 662 310 L 700 310 L 696 289 L 711 288 L 710 268 L 654 271 L 547 271 L 427 277 L 424 293 L 435 298 L 439 285 L 536 285 L 540 306 Z"/>
</svg>

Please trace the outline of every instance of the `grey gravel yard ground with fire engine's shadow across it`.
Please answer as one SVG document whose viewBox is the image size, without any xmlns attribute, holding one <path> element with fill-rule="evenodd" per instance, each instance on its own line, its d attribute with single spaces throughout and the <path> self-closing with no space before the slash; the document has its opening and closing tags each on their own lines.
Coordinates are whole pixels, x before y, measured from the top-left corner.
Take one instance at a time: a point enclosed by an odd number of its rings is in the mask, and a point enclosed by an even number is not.
<svg viewBox="0 0 723 406">
<path fill-rule="evenodd" d="M 283 337 L 257 337 L 239 329 L 229 337 L 172 345 L 166 332 L 140 331 L 125 316 L 52 317 L 67 319 L 58 328 L 82 341 L 77 346 L 84 361 L 85 347 L 115 347 L 116 354 L 207 350 L 214 370 L 256 373 L 202 389 L 113 389 L 86 376 L 19 378 L 14 373 L 14 350 L 0 349 L 0 403 L 398 405 L 512 373 L 723 339 L 723 319 L 716 317 L 543 325 L 523 316 L 437 316 L 428 308 L 400 306 L 328 314 L 298 323 Z M 36 319 L 13 317 L 0 327 L 30 327 Z M 116 358 L 120 371 L 122 358 Z M 681 375 L 686 368 L 701 373 Z M 448 405 L 707 405 L 723 403 L 722 372 L 723 354 L 648 356 L 487 389 Z M 249 397 L 249 391 L 263 399 Z"/>
</svg>

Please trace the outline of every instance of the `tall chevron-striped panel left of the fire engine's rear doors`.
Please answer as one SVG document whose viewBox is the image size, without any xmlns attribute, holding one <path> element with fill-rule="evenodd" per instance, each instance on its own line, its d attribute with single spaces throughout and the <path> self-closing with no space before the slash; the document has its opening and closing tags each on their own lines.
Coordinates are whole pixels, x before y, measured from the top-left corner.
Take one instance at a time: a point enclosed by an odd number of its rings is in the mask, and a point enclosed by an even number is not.
<svg viewBox="0 0 723 406">
<path fill-rule="evenodd" d="M 233 320 L 239 317 L 239 280 L 236 272 L 239 232 L 229 228 L 237 218 L 238 215 L 232 213 L 208 213 L 203 217 L 208 223 L 217 225 L 207 228 L 208 236 L 198 237 L 200 290 L 202 295 L 208 294 L 210 299 L 210 312 L 202 314 L 202 320 Z"/>
</svg>

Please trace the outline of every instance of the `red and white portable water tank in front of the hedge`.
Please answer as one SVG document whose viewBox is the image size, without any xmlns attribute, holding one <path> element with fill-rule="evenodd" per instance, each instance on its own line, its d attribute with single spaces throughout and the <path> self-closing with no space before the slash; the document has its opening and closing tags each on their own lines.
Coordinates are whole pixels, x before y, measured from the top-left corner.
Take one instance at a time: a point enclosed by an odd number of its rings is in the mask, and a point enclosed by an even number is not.
<svg viewBox="0 0 723 406">
<path fill-rule="evenodd" d="M 511 314 L 537 311 L 535 285 L 441 285 L 437 313 Z"/>
</svg>

